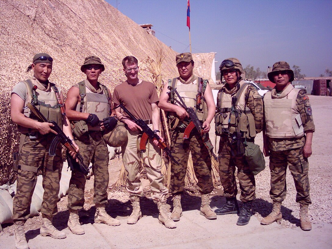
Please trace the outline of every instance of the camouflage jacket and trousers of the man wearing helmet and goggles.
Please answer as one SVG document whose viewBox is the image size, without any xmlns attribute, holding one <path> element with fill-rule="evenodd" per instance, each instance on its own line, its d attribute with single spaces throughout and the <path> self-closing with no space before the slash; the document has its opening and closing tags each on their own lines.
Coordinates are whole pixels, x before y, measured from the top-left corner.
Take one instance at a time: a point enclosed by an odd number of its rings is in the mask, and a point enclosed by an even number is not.
<svg viewBox="0 0 332 249">
<path fill-rule="evenodd" d="M 237 90 L 235 86 L 230 91 L 225 89 L 225 94 L 234 94 Z M 244 90 L 242 94 L 247 94 Z M 222 100 L 218 100 L 222 101 Z M 256 133 L 261 132 L 263 124 L 263 101 L 256 89 L 249 91 L 249 98 L 247 107 L 254 116 Z M 217 105 L 217 113 L 219 112 Z M 254 142 L 255 137 L 250 137 L 246 134 L 247 141 Z M 249 137 L 248 137 L 249 136 Z M 240 200 L 242 202 L 249 202 L 256 199 L 255 195 L 255 177 L 249 170 L 249 166 L 243 156 L 232 156 L 229 135 L 224 133 L 220 136 L 219 141 L 219 172 L 220 181 L 224 189 L 223 196 L 226 198 L 234 198 L 237 195 L 237 186 L 235 181 L 235 166 L 237 167 L 237 177 L 241 190 Z"/>
</svg>

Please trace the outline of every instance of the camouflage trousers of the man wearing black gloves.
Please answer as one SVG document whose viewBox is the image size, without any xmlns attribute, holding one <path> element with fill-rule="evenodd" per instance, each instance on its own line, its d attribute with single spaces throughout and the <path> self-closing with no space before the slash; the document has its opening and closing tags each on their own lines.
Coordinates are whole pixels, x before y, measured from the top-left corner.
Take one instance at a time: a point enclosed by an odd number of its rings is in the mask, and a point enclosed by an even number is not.
<svg viewBox="0 0 332 249">
<path fill-rule="evenodd" d="M 94 195 L 95 204 L 106 204 L 108 200 L 107 187 L 109 183 L 108 162 L 109 152 L 103 139 L 102 131 L 88 131 L 81 137 L 75 138 L 75 143 L 80 148 L 84 158 L 84 164 L 92 163 L 94 174 Z M 84 188 L 86 175 L 79 170 L 71 172 L 68 190 L 68 208 L 80 210 L 84 205 Z"/>
</svg>

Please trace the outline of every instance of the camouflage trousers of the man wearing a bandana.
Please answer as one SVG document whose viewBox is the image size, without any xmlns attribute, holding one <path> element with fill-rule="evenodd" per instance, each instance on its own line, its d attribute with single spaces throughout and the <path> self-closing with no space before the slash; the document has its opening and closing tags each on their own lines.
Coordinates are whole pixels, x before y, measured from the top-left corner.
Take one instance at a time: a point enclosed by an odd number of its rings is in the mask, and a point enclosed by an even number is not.
<svg viewBox="0 0 332 249">
<path fill-rule="evenodd" d="M 13 199 L 13 220 L 27 220 L 30 214 L 32 195 L 37 183 L 37 171 L 41 169 L 44 189 L 41 213 L 44 217 L 57 214 L 58 194 L 62 170 L 61 145 L 56 148 L 56 155 L 49 156 L 48 149 L 54 135 L 40 135 L 38 139 L 30 139 L 21 135 L 23 144 L 19 153 L 19 165 L 22 169 L 17 174 L 17 191 Z"/>
</svg>

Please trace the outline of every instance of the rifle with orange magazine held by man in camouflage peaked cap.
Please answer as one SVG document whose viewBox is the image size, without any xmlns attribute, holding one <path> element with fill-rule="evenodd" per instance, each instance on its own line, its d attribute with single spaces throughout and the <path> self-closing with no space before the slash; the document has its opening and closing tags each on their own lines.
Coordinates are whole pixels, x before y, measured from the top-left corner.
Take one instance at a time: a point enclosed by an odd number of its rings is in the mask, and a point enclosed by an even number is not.
<svg viewBox="0 0 332 249">
<path fill-rule="evenodd" d="M 189 114 L 189 117 L 190 117 L 190 123 L 188 124 L 188 126 L 186 127 L 186 129 L 184 131 L 183 138 L 189 138 L 190 132 L 193 130 L 194 127 L 196 127 L 196 129 L 202 136 L 205 147 L 210 151 L 210 153 L 214 157 L 214 159 L 216 161 L 218 161 L 218 157 L 213 153 L 213 145 L 211 143 L 211 140 L 208 137 L 208 135 L 203 133 L 203 127 L 202 127 L 201 121 L 198 119 L 194 108 L 187 107 L 187 105 L 181 98 L 181 96 L 178 93 L 178 91 L 176 90 L 176 88 L 173 89 L 173 87 L 169 86 L 168 90 L 170 90 L 168 93 L 174 92 L 178 96 L 181 107 L 183 107 L 186 110 L 186 112 Z"/>
</svg>

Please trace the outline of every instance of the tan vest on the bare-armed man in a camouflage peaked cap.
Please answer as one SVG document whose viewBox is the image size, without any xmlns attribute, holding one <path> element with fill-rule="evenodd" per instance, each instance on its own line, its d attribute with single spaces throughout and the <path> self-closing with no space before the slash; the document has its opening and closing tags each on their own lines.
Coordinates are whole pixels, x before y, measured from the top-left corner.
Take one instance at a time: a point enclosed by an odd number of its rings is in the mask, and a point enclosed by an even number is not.
<svg viewBox="0 0 332 249">
<path fill-rule="evenodd" d="M 178 78 L 173 78 L 172 80 L 168 80 L 168 85 L 172 86 L 172 88 L 176 88 L 177 92 L 180 94 L 182 97 L 183 101 L 185 102 L 187 107 L 195 107 L 195 112 L 198 117 L 198 119 L 201 122 L 206 121 L 207 118 L 207 104 L 204 99 L 204 93 L 207 87 L 207 80 L 203 81 L 202 85 L 202 91 L 200 91 L 200 83 L 201 83 L 202 78 L 197 77 L 195 80 L 196 83 L 194 84 L 183 84 L 181 82 L 178 83 Z M 195 82 L 194 81 L 194 82 Z M 201 103 L 198 105 L 197 100 L 199 94 L 202 94 L 201 98 Z M 178 99 L 178 96 L 174 94 L 173 92 L 170 93 L 170 98 L 169 101 L 171 104 L 181 106 L 180 101 Z M 175 115 L 173 112 L 168 113 L 168 121 L 169 121 L 169 126 L 171 130 L 175 129 L 176 127 L 179 128 L 186 128 L 190 121 L 188 119 L 185 119 L 184 121 L 180 121 L 179 118 Z"/>
</svg>

